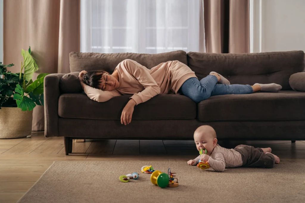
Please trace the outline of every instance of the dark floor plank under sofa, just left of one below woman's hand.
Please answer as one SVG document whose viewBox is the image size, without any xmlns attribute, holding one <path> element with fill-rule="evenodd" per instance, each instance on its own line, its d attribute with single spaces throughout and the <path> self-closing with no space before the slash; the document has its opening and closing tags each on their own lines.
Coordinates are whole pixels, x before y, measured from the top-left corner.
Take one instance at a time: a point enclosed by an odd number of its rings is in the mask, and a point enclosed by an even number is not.
<svg viewBox="0 0 305 203">
<path fill-rule="evenodd" d="M 88 154 L 112 154 L 117 140 L 92 140 L 86 151 Z M 87 142 L 87 140 L 86 140 Z"/>
</svg>

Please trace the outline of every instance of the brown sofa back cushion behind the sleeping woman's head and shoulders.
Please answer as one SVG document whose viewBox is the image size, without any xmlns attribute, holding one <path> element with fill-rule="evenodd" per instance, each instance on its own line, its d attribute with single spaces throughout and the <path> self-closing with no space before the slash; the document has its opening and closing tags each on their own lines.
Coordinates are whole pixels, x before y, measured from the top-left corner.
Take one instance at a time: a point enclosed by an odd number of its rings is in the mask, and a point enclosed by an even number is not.
<svg viewBox="0 0 305 203">
<path fill-rule="evenodd" d="M 187 64 L 185 51 L 171 51 L 161 54 L 136 54 L 136 53 L 70 53 L 70 71 L 81 72 L 82 70 L 105 70 L 112 73 L 117 65 L 125 60 L 132 59 L 146 68 L 159 65 L 162 62 L 178 60 Z"/>
</svg>

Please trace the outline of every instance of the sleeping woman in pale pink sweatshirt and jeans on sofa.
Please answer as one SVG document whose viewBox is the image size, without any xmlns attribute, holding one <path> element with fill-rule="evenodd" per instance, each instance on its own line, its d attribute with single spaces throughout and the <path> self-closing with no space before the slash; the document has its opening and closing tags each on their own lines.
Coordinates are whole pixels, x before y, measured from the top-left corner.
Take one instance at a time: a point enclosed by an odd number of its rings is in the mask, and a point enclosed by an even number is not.
<svg viewBox="0 0 305 203">
<path fill-rule="evenodd" d="M 195 72 L 180 61 L 167 61 L 149 70 L 136 61 L 126 59 L 117 65 L 111 75 L 102 70 L 82 71 L 78 77 L 87 96 L 98 102 L 133 94 L 121 115 L 121 123 L 125 125 L 131 122 L 135 105 L 158 94 L 174 92 L 199 103 L 215 95 L 278 92 L 282 89 L 282 86 L 274 83 L 230 85 L 227 79 L 216 72 L 210 72 L 210 75 L 199 81 Z"/>
</svg>

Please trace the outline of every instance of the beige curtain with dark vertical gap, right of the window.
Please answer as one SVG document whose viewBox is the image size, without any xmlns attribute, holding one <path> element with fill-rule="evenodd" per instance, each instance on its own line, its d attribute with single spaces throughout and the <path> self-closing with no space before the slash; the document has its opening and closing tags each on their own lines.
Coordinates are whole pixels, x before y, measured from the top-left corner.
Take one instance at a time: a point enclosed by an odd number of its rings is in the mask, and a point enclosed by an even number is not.
<svg viewBox="0 0 305 203">
<path fill-rule="evenodd" d="M 206 52 L 249 53 L 249 0 L 204 0 Z"/>
</svg>

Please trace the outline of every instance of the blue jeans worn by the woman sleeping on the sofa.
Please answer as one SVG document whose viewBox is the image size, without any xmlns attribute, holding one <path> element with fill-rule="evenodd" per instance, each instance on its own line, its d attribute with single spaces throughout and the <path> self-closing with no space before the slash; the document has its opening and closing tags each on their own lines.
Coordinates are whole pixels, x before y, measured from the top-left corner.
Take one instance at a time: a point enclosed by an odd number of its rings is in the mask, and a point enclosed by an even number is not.
<svg viewBox="0 0 305 203">
<path fill-rule="evenodd" d="M 187 79 L 179 89 L 179 93 L 199 103 L 210 96 L 224 94 L 251 94 L 253 88 L 250 85 L 224 85 L 218 82 L 215 75 L 208 75 L 200 81 L 197 78 Z"/>
</svg>

